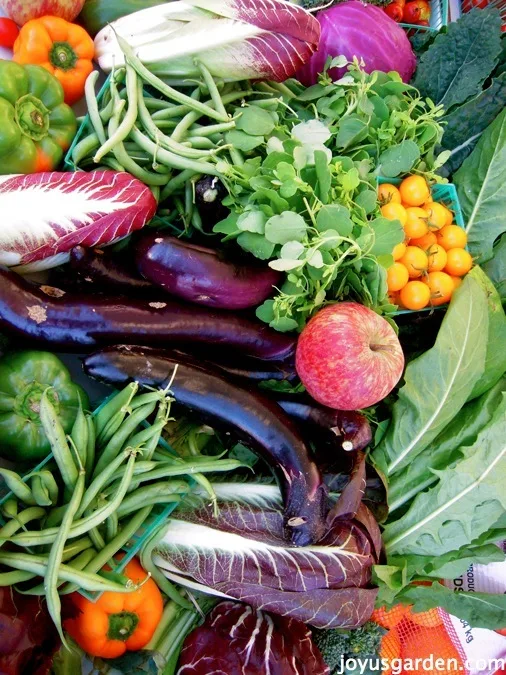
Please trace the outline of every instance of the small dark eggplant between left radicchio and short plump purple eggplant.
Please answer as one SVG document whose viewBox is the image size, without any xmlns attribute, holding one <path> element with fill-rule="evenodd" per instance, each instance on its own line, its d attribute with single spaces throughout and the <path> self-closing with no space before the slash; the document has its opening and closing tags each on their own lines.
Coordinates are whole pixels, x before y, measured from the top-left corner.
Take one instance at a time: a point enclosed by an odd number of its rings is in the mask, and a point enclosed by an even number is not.
<svg viewBox="0 0 506 675">
<path fill-rule="evenodd" d="M 144 295 L 155 292 L 153 284 L 143 279 L 107 249 L 75 246 L 70 252 L 70 270 L 82 288 L 94 292 L 118 292 Z"/>
</svg>

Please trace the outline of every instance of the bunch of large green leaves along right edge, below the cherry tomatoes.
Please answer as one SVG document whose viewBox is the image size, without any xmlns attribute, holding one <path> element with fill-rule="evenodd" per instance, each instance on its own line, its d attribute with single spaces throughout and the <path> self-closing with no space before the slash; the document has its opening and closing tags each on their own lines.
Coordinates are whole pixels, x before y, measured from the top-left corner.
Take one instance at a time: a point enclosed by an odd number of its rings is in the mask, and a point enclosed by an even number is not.
<svg viewBox="0 0 506 675">
<path fill-rule="evenodd" d="M 505 372 L 506 317 L 475 267 L 452 298 L 435 345 L 407 366 L 372 453 L 389 505 L 387 564 L 375 568 L 379 605 L 444 607 L 476 627 L 504 626 L 505 595 L 454 594 L 438 580 L 504 559 L 495 542 L 506 536 Z M 434 584 L 410 586 L 414 580 Z"/>
</svg>

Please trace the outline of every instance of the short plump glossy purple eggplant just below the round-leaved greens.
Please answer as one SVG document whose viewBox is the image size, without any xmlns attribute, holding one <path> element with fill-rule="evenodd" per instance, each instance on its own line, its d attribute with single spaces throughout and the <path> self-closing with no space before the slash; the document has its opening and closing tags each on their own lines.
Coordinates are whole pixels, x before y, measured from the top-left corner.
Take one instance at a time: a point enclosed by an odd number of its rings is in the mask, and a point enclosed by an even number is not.
<svg viewBox="0 0 506 675">
<path fill-rule="evenodd" d="M 279 272 L 236 264 L 210 248 L 161 232 L 147 232 L 135 247 L 140 274 L 178 298 L 216 309 L 256 307 L 272 295 Z"/>
</svg>

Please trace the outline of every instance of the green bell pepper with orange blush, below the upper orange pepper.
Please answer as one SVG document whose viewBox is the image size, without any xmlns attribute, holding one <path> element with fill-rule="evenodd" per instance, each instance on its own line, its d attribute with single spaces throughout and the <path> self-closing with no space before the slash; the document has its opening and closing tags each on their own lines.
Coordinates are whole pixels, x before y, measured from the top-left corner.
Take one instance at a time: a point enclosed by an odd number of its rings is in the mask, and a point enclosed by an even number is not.
<svg viewBox="0 0 506 675">
<path fill-rule="evenodd" d="M 77 131 L 63 87 L 41 66 L 0 60 L 0 174 L 55 170 Z"/>
</svg>

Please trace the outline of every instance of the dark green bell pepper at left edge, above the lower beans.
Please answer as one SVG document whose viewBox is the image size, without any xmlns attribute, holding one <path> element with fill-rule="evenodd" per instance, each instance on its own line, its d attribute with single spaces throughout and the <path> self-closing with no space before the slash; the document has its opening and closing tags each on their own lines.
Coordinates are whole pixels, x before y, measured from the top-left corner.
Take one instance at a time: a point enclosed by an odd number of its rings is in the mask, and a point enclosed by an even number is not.
<svg viewBox="0 0 506 675">
<path fill-rule="evenodd" d="M 46 390 L 69 433 L 79 402 L 83 408 L 89 402 L 60 359 L 38 351 L 14 352 L 0 359 L 0 456 L 4 459 L 36 464 L 50 452 L 40 421 L 40 399 Z"/>
</svg>

